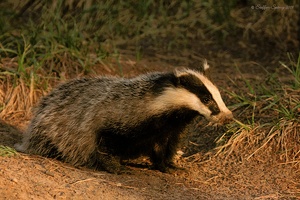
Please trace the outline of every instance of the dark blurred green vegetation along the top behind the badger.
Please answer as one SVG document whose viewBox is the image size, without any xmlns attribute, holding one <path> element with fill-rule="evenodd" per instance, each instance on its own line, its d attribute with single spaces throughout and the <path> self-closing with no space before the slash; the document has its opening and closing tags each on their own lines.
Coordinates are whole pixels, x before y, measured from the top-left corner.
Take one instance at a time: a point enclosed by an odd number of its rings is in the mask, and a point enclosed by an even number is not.
<svg viewBox="0 0 300 200">
<path fill-rule="evenodd" d="M 3 0 L 0 16 L 1 57 L 26 54 L 30 71 L 64 53 L 88 71 L 122 49 L 189 67 L 203 57 L 268 67 L 299 51 L 297 0 Z"/>
</svg>

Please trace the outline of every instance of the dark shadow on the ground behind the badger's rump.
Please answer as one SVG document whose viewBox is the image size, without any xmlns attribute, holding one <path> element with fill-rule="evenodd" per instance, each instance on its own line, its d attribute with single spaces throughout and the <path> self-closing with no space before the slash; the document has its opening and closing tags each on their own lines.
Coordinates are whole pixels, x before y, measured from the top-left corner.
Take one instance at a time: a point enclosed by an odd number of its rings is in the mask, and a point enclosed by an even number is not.
<svg viewBox="0 0 300 200">
<path fill-rule="evenodd" d="M 0 120 L 0 145 L 14 148 L 14 144 L 22 141 L 22 131 Z"/>
</svg>

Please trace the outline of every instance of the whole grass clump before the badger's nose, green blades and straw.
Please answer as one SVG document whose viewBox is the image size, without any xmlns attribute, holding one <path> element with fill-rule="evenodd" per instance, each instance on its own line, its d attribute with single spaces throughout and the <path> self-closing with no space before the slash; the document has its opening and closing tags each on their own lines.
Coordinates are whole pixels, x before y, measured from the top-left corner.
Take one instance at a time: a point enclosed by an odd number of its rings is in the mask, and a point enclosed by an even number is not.
<svg viewBox="0 0 300 200">
<path fill-rule="evenodd" d="M 256 91 L 255 99 L 252 95 L 228 92 L 237 102 L 235 109 L 248 115 L 248 120 L 241 122 L 235 119 L 235 123 L 227 126 L 227 131 L 217 140 L 216 155 L 246 154 L 246 158 L 251 159 L 271 147 L 282 162 L 300 166 L 300 64 L 290 60 L 290 64 L 281 65 L 291 72 L 293 81 L 290 84 L 281 83 L 278 79 L 272 89 L 267 89 L 266 85 L 257 88 L 247 86 L 249 94 Z M 268 113 L 268 118 L 259 121 L 263 113 Z"/>
</svg>

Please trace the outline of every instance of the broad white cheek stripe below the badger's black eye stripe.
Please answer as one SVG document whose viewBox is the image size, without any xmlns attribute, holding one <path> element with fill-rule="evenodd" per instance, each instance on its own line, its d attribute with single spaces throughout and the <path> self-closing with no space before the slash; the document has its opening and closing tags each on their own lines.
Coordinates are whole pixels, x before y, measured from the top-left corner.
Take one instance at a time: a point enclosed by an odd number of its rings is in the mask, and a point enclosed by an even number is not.
<svg viewBox="0 0 300 200">
<path fill-rule="evenodd" d="M 170 108 L 187 107 L 198 111 L 201 115 L 209 118 L 211 111 L 199 100 L 199 98 L 183 88 L 168 88 L 158 96 L 150 105 L 150 111 L 162 113 Z"/>
</svg>

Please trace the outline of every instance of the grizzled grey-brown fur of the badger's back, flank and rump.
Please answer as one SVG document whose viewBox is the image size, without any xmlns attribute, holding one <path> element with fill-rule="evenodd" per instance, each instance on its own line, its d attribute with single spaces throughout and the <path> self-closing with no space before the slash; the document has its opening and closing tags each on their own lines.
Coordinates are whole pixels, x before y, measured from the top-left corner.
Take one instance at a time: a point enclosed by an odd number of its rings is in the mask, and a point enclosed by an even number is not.
<svg viewBox="0 0 300 200">
<path fill-rule="evenodd" d="M 173 81 L 171 73 L 153 73 L 134 79 L 83 78 L 60 85 L 36 109 L 25 136 L 26 151 L 84 165 L 101 135 L 113 132 L 120 139 L 111 146 L 131 146 L 146 137 L 147 128 L 156 126 L 162 114 L 154 116 L 145 109 L 164 87 L 173 87 Z"/>
</svg>

